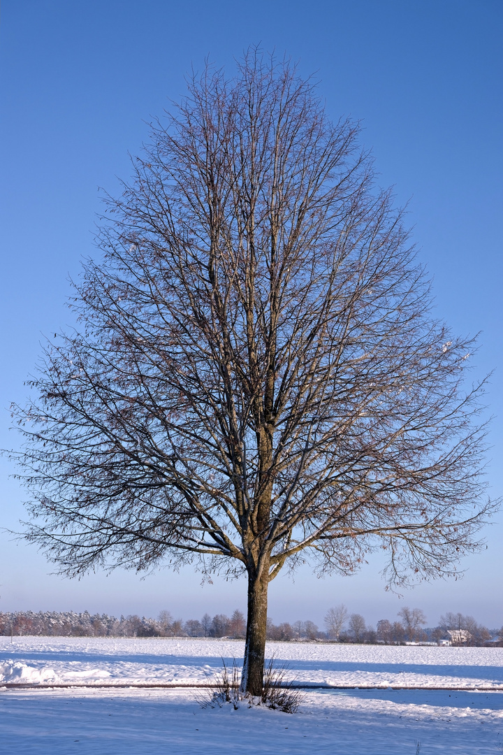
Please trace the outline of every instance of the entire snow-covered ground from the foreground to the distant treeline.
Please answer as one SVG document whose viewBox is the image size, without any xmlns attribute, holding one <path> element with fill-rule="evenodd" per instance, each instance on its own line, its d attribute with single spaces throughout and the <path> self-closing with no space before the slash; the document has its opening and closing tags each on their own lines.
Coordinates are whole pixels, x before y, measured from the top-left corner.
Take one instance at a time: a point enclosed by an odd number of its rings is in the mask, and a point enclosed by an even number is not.
<svg viewBox="0 0 503 755">
<path fill-rule="evenodd" d="M 2 637 L 0 752 L 503 753 L 503 649 L 269 643 L 298 682 L 373 687 L 307 691 L 293 716 L 123 686 L 201 683 L 242 652 L 231 640 Z"/>
</svg>

